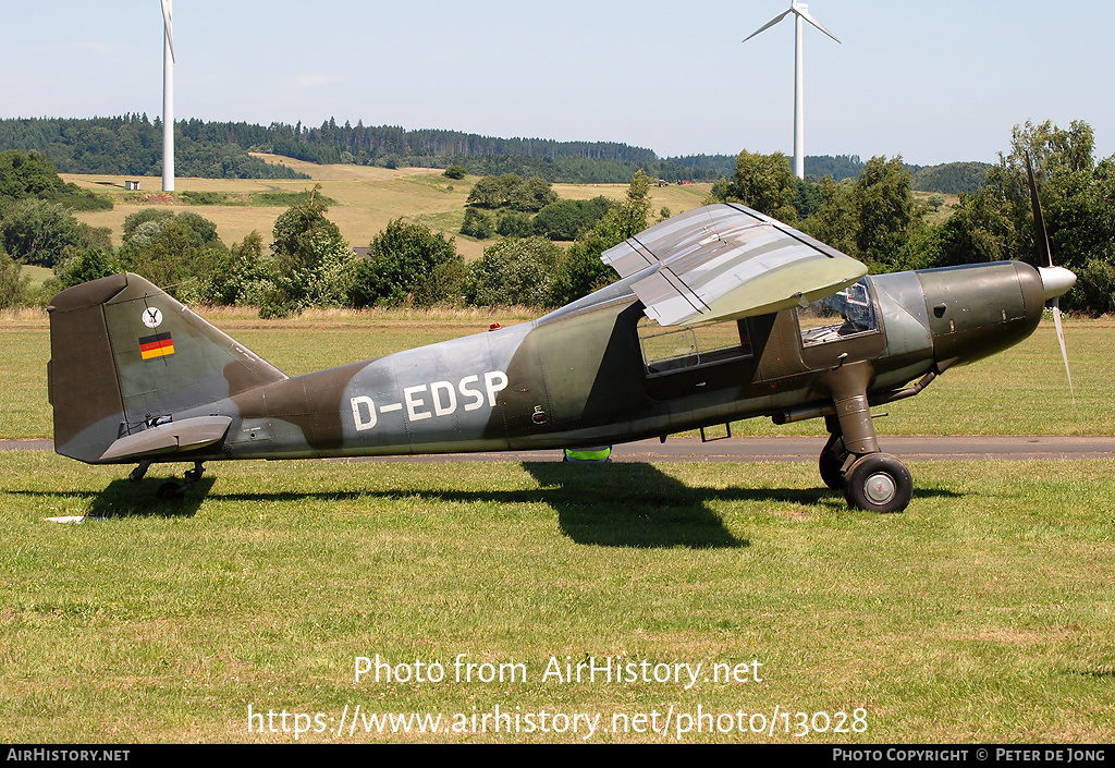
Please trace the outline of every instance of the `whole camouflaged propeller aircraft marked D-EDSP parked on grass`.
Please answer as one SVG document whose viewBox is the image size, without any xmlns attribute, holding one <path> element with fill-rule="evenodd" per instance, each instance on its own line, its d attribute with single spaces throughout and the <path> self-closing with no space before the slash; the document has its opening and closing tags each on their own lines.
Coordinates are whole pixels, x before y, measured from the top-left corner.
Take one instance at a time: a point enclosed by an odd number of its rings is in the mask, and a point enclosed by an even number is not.
<svg viewBox="0 0 1115 768">
<path fill-rule="evenodd" d="M 823 417 L 821 477 L 899 511 L 913 482 L 871 407 L 1029 336 L 1075 276 L 1018 261 L 867 269 L 741 205 L 615 246 L 618 282 L 544 317 L 290 377 L 130 273 L 58 294 L 55 448 L 88 463 L 452 453 L 622 443 Z"/>
</svg>

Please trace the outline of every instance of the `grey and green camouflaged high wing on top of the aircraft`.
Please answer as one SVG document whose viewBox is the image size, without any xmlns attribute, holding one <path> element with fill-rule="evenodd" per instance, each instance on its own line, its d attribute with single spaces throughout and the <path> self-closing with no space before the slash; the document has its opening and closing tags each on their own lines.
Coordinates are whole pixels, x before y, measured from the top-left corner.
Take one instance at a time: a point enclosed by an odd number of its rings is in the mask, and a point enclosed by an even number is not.
<svg viewBox="0 0 1115 768">
<path fill-rule="evenodd" d="M 600 257 L 659 325 L 689 325 L 805 306 L 867 273 L 855 259 L 736 203 L 668 219 Z"/>
</svg>

